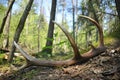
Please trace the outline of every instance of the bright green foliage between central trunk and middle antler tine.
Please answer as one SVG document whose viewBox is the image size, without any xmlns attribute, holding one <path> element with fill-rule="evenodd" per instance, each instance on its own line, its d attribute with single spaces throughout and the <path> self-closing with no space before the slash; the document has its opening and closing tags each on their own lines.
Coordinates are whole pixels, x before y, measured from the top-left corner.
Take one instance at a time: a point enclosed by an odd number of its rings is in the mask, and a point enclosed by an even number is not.
<svg viewBox="0 0 120 80">
<path fill-rule="evenodd" d="M 64 27 L 68 29 L 67 23 L 64 23 Z M 65 53 L 71 51 L 71 45 L 63 31 L 58 26 L 55 26 L 53 53 L 60 53 L 61 51 Z"/>
</svg>

